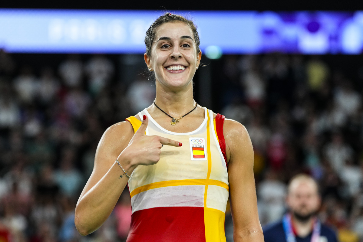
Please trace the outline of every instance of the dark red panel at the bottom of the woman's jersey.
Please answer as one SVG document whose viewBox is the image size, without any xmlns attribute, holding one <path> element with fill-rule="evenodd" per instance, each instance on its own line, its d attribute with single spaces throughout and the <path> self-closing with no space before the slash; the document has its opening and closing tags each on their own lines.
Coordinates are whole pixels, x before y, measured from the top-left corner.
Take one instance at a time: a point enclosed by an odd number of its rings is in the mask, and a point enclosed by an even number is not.
<svg viewBox="0 0 363 242">
<path fill-rule="evenodd" d="M 204 242 L 203 207 L 149 208 L 132 213 L 126 242 Z"/>
</svg>

